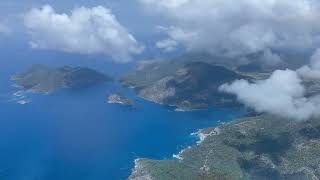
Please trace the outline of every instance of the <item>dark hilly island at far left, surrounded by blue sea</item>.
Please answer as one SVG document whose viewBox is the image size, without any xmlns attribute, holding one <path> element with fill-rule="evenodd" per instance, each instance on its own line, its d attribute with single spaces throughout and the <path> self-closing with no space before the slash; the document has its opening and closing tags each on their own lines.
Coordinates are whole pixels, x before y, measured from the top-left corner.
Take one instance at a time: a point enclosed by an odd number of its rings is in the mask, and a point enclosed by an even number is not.
<svg viewBox="0 0 320 180">
<path fill-rule="evenodd" d="M 50 93 L 60 88 L 82 88 L 110 81 L 108 76 L 82 67 L 50 68 L 33 65 L 25 72 L 14 76 L 17 86 L 35 93 Z"/>
</svg>

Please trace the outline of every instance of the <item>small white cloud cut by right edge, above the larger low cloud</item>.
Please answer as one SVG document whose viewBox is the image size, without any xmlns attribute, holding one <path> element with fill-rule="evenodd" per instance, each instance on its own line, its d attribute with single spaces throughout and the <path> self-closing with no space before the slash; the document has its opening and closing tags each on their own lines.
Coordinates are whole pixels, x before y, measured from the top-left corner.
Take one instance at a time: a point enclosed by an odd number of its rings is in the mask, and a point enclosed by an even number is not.
<svg viewBox="0 0 320 180">
<path fill-rule="evenodd" d="M 297 72 L 306 79 L 320 79 L 320 49 L 310 59 L 310 64 L 301 67 Z"/>
</svg>

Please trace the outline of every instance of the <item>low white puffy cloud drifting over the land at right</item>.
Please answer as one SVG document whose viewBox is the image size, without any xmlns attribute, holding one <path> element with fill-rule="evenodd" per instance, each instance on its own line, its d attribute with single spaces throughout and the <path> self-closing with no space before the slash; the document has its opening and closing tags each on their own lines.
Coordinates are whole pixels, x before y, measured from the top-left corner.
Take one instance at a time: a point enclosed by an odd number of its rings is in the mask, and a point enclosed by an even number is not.
<svg viewBox="0 0 320 180">
<path fill-rule="evenodd" d="M 257 112 L 296 120 L 320 115 L 320 97 L 305 97 L 305 87 L 296 71 L 277 70 L 269 79 L 255 83 L 237 80 L 222 85 L 220 90 L 235 94 L 240 102 Z"/>
</svg>

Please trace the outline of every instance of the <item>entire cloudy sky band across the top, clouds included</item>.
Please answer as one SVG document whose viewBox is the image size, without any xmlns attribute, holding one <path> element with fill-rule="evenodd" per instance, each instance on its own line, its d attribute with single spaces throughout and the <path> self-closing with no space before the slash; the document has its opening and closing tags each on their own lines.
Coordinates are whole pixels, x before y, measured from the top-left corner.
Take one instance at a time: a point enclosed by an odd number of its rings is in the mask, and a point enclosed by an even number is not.
<svg viewBox="0 0 320 180">
<path fill-rule="evenodd" d="M 3 0 L 0 32 L 28 40 L 33 49 L 100 54 L 120 63 L 154 49 L 183 49 L 242 61 L 262 52 L 274 65 L 282 62 L 277 51 L 320 46 L 319 7 L 316 0 Z"/>
</svg>

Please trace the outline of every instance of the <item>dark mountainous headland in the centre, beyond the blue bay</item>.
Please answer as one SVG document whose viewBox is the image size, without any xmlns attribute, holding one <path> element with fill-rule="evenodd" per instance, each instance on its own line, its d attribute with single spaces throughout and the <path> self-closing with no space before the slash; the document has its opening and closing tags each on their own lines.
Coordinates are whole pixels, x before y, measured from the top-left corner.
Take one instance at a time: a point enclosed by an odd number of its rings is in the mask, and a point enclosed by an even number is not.
<svg viewBox="0 0 320 180">
<path fill-rule="evenodd" d="M 149 101 L 175 106 L 178 111 L 207 109 L 210 106 L 238 108 L 235 96 L 219 91 L 224 83 L 238 79 L 263 79 L 268 72 L 240 72 L 237 67 L 221 63 L 210 56 L 184 56 L 139 64 L 122 78 L 122 84 L 133 87 Z"/>
</svg>

